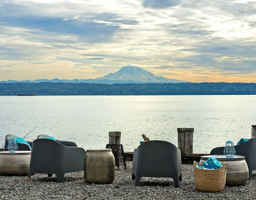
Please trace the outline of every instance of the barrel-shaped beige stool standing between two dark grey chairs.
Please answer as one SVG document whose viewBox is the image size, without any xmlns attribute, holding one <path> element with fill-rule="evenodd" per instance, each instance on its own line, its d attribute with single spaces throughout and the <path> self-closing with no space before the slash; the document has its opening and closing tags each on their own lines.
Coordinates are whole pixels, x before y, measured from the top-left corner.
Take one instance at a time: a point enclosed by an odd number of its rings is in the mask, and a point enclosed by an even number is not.
<svg viewBox="0 0 256 200">
<path fill-rule="evenodd" d="M 89 149 L 84 157 L 86 183 L 107 184 L 115 180 L 115 157 L 109 148 Z"/>
</svg>

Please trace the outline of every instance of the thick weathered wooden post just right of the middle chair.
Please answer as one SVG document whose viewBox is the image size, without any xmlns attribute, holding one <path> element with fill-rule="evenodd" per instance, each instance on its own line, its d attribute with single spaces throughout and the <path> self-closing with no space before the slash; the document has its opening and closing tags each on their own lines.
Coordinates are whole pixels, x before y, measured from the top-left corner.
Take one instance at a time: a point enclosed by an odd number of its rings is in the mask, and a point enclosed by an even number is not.
<svg viewBox="0 0 256 200">
<path fill-rule="evenodd" d="M 178 128 L 178 148 L 181 155 L 193 154 L 194 128 Z"/>
</svg>

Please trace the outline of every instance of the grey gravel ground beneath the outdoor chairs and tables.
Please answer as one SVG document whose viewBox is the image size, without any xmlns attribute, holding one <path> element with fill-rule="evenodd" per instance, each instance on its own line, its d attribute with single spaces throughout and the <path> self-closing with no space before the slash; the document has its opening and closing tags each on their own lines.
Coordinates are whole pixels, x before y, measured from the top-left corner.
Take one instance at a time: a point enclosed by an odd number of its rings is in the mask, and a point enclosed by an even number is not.
<svg viewBox="0 0 256 200">
<path fill-rule="evenodd" d="M 182 165 L 182 182 L 175 188 L 172 178 L 141 178 L 135 187 L 131 180 L 132 162 L 127 170 L 116 168 L 115 182 L 108 185 L 88 184 L 83 171 L 67 173 L 64 183 L 56 176 L 0 176 L 0 199 L 256 199 L 256 175 L 246 185 L 225 187 L 221 192 L 200 192 L 195 189 L 193 166 Z"/>
</svg>

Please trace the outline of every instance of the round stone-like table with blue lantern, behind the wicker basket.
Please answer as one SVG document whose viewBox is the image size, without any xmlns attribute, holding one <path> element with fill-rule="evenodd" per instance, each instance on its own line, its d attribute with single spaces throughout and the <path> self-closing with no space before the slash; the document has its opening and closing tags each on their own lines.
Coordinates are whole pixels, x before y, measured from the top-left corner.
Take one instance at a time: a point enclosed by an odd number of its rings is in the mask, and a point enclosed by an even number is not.
<svg viewBox="0 0 256 200">
<path fill-rule="evenodd" d="M 221 164 L 227 163 L 226 185 L 244 185 L 249 178 L 249 170 L 243 155 L 226 157 L 225 155 L 204 155 L 201 156 L 200 163 L 215 157 Z"/>
</svg>

